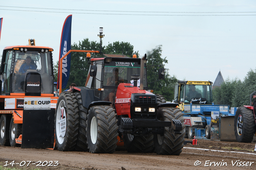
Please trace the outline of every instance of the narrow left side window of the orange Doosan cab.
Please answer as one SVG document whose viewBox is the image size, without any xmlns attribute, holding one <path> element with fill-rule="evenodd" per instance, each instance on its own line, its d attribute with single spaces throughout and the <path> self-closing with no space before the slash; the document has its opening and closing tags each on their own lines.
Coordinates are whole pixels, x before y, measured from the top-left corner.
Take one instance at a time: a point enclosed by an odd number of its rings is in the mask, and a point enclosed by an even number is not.
<svg viewBox="0 0 256 170">
<path fill-rule="evenodd" d="M 5 72 L 6 80 L 4 84 L 4 89 L 6 93 L 10 93 L 10 77 L 11 77 L 11 68 L 12 68 L 12 51 L 6 51 L 6 61 L 5 61 Z"/>
</svg>

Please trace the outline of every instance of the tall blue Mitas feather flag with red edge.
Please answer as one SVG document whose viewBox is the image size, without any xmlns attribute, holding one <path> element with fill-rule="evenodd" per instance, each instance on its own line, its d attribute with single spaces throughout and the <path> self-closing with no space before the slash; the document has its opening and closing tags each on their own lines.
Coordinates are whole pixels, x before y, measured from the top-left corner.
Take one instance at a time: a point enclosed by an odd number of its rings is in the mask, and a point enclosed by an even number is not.
<svg viewBox="0 0 256 170">
<path fill-rule="evenodd" d="M 61 33 L 61 39 L 60 39 L 60 58 L 62 58 L 71 49 L 71 21 L 72 21 L 72 15 L 69 15 L 66 18 L 62 27 L 62 33 Z M 68 83 L 69 73 L 70 73 L 71 54 L 67 55 L 62 60 L 62 68 L 60 68 L 60 58 L 59 58 L 57 88 L 59 88 L 60 74 L 62 74 L 62 88 L 66 88 L 66 85 Z M 62 70 L 62 72 L 60 72 L 60 70 Z"/>
</svg>

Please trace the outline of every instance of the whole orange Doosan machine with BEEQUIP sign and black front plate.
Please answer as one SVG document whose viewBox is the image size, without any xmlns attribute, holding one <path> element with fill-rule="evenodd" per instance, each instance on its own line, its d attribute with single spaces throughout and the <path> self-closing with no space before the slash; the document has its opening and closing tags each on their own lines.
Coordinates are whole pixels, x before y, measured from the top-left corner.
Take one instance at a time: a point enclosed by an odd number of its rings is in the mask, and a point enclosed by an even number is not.
<svg viewBox="0 0 256 170">
<path fill-rule="evenodd" d="M 50 47 L 5 47 L 0 68 L 0 145 L 54 147 L 54 73 Z M 55 106 L 55 107 L 54 107 Z M 33 135 L 31 135 L 33 134 Z"/>
</svg>

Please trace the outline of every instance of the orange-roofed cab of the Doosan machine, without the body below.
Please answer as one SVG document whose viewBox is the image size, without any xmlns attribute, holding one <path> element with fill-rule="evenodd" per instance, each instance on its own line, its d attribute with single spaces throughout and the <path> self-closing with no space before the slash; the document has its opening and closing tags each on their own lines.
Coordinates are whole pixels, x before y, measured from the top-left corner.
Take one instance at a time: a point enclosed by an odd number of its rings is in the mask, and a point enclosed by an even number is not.
<svg viewBox="0 0 256 170">
<path fill-rule="evenodd" d="M 4 48 L 0 68 L 1 95 L 53 94 L 52 51 L 49 47 Z"/>
</svg>

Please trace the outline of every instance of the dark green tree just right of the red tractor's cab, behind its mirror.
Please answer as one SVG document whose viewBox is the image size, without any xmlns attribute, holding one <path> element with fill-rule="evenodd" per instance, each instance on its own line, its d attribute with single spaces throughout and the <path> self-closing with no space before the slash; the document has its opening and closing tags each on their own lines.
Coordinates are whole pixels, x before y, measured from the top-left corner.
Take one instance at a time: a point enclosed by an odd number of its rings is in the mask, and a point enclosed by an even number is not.
<svg viewBox="0 0 256 170">
<path fill-rule="evenodd" d="M 162 45 L 158 45 L 152 51 L 147 52 L 148 59 L 148 82 L 153 82 L 148 84 L 148 88 L 154 90 L 155 94 L 161 94 L 165 97 L 166 101 L 172 101 L 174 99 L 174 86 L 178 82 L 175 76 L 170 76 L 168 73 L 169 69 L 165 68 L 165 78 L 164 80 L 158 80 L 158 69 L 161 66 L 149 66 L 149 65 L 163 65 L 168 63 L 166 57 L 162 58 Z"/>
</svg>

